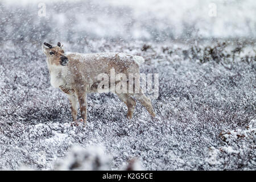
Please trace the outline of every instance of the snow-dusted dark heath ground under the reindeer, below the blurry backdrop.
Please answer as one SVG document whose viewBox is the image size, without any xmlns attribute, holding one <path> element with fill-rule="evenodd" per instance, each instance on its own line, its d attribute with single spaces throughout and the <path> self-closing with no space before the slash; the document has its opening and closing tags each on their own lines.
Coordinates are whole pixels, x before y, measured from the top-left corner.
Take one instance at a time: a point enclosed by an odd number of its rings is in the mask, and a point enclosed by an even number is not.
<svg viewBox="0 0 256 182">
<path fill-rule="evenodd" d="M 0 65 L 0 168 L 25 164 L 53 169 L 71 146 L 101 145 L 112 158 L 110 169 L 134 157 L 150 170 L 255 169 L 251 45 L 241 46 L 234 56 L 236 46 L 214 43 L 212 54 L 205 44 L 89 45 L 92 52 L 127 52 L 146 59 L 141 72 L 159 73 L 159 97 L 152 101 L 157 117 L 137 104 L 129 121 L 117 96 L 90 94 L 88 126 L 71 127 L 69 102 L 50 86 L 40 47 L 5 45 Z"/>
</svg>

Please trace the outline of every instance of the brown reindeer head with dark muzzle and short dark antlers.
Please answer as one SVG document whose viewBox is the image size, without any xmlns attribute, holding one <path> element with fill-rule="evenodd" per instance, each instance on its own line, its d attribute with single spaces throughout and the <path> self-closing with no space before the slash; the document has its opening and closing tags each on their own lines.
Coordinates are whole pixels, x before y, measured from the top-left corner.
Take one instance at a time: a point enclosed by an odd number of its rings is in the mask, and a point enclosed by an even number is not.
<svg viewBox="0 0 256 182">
<path fill-rule="evenodd" d="M 42 48 L 50 64 L 62 66 L 68 64 L 68 57 L 64 56 L 63 45 L 61 46 L 59 42 L 55 47 L 53 47 L 51 44 L 44 42 Z"/>
</svg>

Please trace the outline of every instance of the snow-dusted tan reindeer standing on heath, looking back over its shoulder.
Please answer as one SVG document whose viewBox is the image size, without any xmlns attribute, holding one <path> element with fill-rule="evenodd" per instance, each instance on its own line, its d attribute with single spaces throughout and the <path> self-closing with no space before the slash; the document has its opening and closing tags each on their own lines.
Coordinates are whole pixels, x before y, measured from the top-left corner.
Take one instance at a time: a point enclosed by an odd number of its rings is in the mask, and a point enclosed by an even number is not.
<svg viewBox="0 0 256 182">
<path fill-rule="evenodd" d="M 71 104 L 73 122 L 77 125 L 77 101 L 80 105 L 81 119 L 86 123 L 86 93 L 98 92 L 100 81 L 97 76 L 105 73 L 110 76 L 110 69 L 117 73 L 123 73 L 127 77 L 132 73 L 139 75 L 139 64 L 144 62 L 143 57 L 133 56 L 125 53 L 69 53 L 65 55 L 63 45 L 57 43 L 53 47 L 51 44 L 42 45 L 43 52 L 47 57 L 47 66 L 51 76 L 51 85 L 60 88 L 68 97 Z M 116 81 L 116 80 L 115 80 Z M 117 84 L 117 82 L 115 82 Z M 129 79 L 127 79 L 129 84 Z M 111 92 L 111 89 L 110 89 Z M 112 90 L 113 93 L 115 93 Z M 127 118 L 133 117 L 136 98 L 146 107 L 146 110 L 155 117 L 154 110 L 148 99 L 139 86 L 139 93 L 115 93 L 127 106 Z M 133 98 L 134 97 L 134 98 Z"/>
</svg>

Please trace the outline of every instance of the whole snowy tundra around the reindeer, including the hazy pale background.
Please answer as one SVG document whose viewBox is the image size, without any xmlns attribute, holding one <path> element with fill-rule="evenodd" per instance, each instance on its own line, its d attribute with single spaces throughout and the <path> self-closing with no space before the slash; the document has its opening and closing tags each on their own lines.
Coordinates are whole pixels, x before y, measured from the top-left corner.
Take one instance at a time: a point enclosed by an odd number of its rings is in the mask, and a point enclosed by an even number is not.
<svg viewBox="0 0 256 182">
<path fill-rule="evenodd" d="M 51 2 L 39 17 L 36 3 L 0 2 L 0 169 L 255 170 L 255 3 L 230 2 L 216 1 L 220 13 L 247 10 L 237 15 L 242 28 L 232 15 L 210 18 L 224 29 L 230 18 L 229 34 L 202 24 L 207 16 L 191 3 L 181 9 L 196 9 L 191 21 L 174 13 L 180 30 L 169 11 L 156 16 L 160 5 L 146 12 L 125 2 Z M 117 96 L 97 93 L 88 95 L 87 126 L 72 127 L 68 99 L 50 85 L 43 42 L 143 56 L 141 72 L 159 73 L 156 117 L 137 102 L 129 120 Z"/>
</svg>

